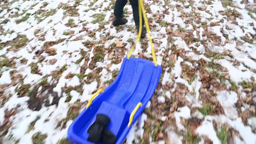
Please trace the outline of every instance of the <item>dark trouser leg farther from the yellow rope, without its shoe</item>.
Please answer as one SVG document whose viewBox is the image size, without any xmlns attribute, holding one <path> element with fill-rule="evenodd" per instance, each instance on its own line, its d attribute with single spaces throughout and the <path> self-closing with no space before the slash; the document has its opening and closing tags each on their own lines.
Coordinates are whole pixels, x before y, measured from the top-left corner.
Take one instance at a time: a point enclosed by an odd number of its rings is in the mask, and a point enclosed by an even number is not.
<svg viewBox="0 0 256 144">
<path fill-rule="evenodd" d="M 126 5 L 127 0 L 116 0 L 114 15 L 115 19 L 121 19 L 124 15 L 124 6 Z"/>
</svg>

